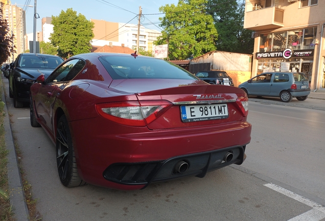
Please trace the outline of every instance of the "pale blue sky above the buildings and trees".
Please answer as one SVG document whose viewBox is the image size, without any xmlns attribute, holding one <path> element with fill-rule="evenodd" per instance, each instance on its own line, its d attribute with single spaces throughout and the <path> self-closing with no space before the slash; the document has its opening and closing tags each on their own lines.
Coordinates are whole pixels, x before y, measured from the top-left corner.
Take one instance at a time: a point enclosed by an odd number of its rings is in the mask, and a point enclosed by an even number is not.
<svg viewBox="0 0 325 221">
<path fill-rule="evenodd" d="M 26 32 L 33 33 L 34 30 L 34 4 L 36 1 L 36 13 L 39 18 L 36 20 L 36 31 L 41 31 L 41 19 L 43 17 L 58 16 L 61 11 L 72 8 L 77 14 L 83 14 L 88 20 L 97 19 L 119 23 L 137 24 L 136 14 L 139 7 L 142 8 L 144 17 L 141 23 L 148 29 L 161 31 L 159 29 L 159 7 L 167 4 L 177 5 L 178 0 L 12 0 L 12 5 L 20 8 L 27 8 L 26 11 Z M 26 7 L 26 5 L 33 7 Z M 154 14 L 154 15 L 146 15 Z M 133 19 L 132 19 L 133 18 Z M 130 21 L 131 20 L 131 21 Z M 155 25 L 149 25 L 154 23 Z"/>
</svg>

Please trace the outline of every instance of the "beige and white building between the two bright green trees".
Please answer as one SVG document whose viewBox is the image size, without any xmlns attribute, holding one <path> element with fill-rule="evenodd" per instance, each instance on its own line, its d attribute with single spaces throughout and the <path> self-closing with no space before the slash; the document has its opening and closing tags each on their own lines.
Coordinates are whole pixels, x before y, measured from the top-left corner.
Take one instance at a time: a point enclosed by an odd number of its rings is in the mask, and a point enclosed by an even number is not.
<svg viewBox="0 0 325 221">
<path fill-rule="evenodd" d="M 137 25 L 125 23 L 112 23 L 105 20 L 91 19 L 94 22 L 94 39 L 92 39 L 92 46 L 121 46 L 131 49 L 136 48 L 137 44 Z M 153 41 L 160 36 L 161 33 L 156 30 L 146 29 L 140 26 L 139 34 L 139 48 L 144 51 L 152 51 Z"/>
</svg>

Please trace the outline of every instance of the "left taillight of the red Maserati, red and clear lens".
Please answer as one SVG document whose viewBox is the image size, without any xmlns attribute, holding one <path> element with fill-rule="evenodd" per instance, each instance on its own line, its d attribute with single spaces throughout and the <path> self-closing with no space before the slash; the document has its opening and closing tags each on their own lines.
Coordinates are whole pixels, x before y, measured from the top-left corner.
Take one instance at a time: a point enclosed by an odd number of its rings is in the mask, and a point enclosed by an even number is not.
<svg viewBox="0 0 325 221">
<path fill-rule="evenodd" d="M 146 126 L 172 105 L 168 101 L 124 101 L 96 104 L 98 113 L 111 121 L 129 125 Z"/>
</svg>

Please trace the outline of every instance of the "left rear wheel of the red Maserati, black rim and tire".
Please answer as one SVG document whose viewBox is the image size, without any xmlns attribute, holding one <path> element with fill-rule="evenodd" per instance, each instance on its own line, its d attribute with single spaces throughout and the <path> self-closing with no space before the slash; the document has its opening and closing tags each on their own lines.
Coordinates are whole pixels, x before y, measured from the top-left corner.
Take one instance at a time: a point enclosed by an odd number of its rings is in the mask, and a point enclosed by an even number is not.
<svg viewBox="0 0 325 221">
<path fill-rule="evenodd" d="M 60 117 L 57 124 L 56 162 L 59 177 L 64 186 L 76 187 L 85 184 L 78 173 L 75 150 L 65 115 Z"/>
</svg>

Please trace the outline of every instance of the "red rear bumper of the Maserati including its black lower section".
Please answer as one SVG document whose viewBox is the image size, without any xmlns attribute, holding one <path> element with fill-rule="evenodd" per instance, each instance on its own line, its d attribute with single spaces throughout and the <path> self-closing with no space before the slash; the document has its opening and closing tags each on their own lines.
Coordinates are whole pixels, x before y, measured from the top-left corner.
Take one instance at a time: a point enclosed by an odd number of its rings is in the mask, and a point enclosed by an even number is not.
<svg viewBox="0 0 325 221">
<path fill-rule="evenodd" d="M 250 142 L 251 133 L 251 125 L 245 121 L 170 130 L 133 128 L 134 132 L 130 131 L 130 128 L 123 130 L 121 125 L 112 123 L 108 125 L 105 122 L 100 117 L 71 122 L 72 137 L 78 138 L 74 139 L 78 171 L 81 178 L 89 184 L 126 190 L 141 189 L 150 182 L 184 175 L 203 177 L 207 171 L 233 163 L 241 164 L 245 158 L 245 145 Z M 233 150 L 235 148 L 236 155 L 234 153 L 233 161 L 221 164 L 220 158 L 227 148 L 232 151 L 235 151 Z M 207 161 L 209 158 L 211 160 Z M 189 171 L 172 175 L 175 162 L 182 159 L 189 161 Z M 195 166 L 193 162 L 197 161 L 201 162 L 199 163 L 201 166 Z M 153 173 L 149 178 L 141 178 L 140 180 L 146 180 L 142 182 L 133 182 L 133 178 L 127 180 L 119 170 L 121 167 L 117 166 L 137 165 L 131 166 L 134 170 L 143 164 L 148 164 L 144 170 L 148 167 Z M 165 168 L 169 169 L 166 171 Z M 167 173 L 171 176 L 166 175 Z M 120 175 L 115 177 L 112 174 Z M 126 173 L 126 176 L 133 177 L 134 174 L 131 174 L 132 172 Z M 139 174 L 140 172 L 136 176 Z"/>
</svg>

